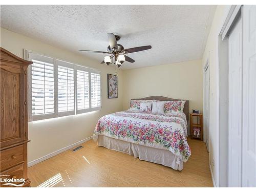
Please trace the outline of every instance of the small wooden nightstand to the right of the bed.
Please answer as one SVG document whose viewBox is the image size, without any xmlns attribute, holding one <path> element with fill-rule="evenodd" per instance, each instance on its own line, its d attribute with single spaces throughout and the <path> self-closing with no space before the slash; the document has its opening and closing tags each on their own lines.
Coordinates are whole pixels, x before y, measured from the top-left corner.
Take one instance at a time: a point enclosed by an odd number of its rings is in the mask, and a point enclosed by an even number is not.
<svg viewBox="0 0 256 192">
<path fill-rule="evenodd" d="M 203 140 L 203 114 L 190 113 L 191 139 Z"/>
</svg>

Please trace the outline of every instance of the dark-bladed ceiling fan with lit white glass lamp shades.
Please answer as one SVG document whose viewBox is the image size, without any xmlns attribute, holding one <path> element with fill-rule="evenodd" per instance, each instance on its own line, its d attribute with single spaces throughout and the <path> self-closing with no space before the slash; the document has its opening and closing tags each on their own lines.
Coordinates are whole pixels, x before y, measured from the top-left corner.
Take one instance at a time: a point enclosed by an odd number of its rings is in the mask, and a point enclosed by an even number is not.
<svg viewBox="0 0 256 192">
<path fill-rule="evenodd" d="M 151 46 L 141 46 L 134 47 L 130 49 L 124 49 L 124 47 L 120 44 L 117 44 L 117 41 L 120 40 L 120 36 L 114 35 L 113 33 L 108 33 L 109 39 L 109 47 L 106 49 L 107 51 L 91 51 L 91 50 L 79 50 L 86 51 L 89 53 L 103 53 L 103 54 L 111 54 L 110 56 L 105 56 L 104 60 L 101 63 L 106 63 L 106 65 L 110 65 L 114 62 L 115 65 L 120 67 L 124 61 L 135 62 L 131 57 L 128 57 L 124 54 L 134 53 L 138 51 L 144 51 L 147 49 L 151 49 Z"/>
</svg>

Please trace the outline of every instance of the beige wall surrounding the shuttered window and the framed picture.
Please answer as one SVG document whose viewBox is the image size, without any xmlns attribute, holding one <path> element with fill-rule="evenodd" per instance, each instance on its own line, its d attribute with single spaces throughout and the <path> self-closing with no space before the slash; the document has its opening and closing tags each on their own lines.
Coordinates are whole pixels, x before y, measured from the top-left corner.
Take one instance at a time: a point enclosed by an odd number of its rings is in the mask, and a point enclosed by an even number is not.
<svg viewBox="0 0 256 192">
<path fill-rule="evenodd" d="M 53 153 L 82 139 L 92 136 L 100 117 L 122 110 L 123 74 L 118 70 L 118 98 L 108 99 L 107 74 L 115 74 L 114 67 L 100 65 L 87 57 L 59 49 L 35 39 L 1 28 L 1 47 L 23 58 L 23 49 L 57 57 L 69 62 L 91 66 L 102 72 L 102 110 L 29 123 L 28 161 Z"/>
</svg>

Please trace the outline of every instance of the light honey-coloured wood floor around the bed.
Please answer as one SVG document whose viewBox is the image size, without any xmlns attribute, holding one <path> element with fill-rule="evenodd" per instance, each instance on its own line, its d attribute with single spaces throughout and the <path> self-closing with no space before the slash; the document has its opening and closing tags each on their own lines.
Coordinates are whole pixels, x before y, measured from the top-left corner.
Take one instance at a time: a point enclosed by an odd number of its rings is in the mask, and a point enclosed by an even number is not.
<svg viewBox="0 0 256 192">
<path fill-rule="evenodd" d="M 212 187 L 205 143 L 188 138 L 192 155 L 182 171 L 98 147 L 90 140 L 28 169 L 31 186 Z"/>
</svg>

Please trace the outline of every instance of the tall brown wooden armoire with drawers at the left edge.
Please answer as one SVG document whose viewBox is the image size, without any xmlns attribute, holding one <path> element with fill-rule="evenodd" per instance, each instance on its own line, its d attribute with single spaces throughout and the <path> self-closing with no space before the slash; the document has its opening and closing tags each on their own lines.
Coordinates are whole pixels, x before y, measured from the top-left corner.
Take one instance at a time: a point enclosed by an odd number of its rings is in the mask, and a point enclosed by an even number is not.
<svg viewBox="0 0 256 192">
<path fill-rule="evenodd" d="M 27 68 L 31 63 L 1 48 L 1 179 L 24 178 L 24 184 L 14 183 L 24 187 L 30 186 L 27 174 Z M 3 184 L 6 183 L 1 182 L 1 187 L 10 187 Z"/>
</svg>

